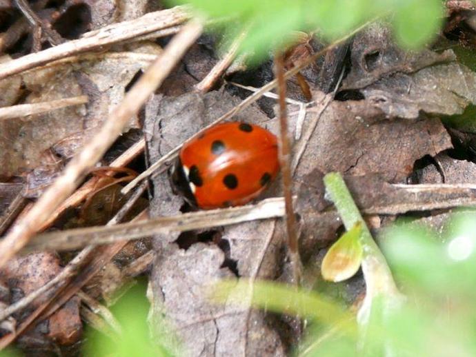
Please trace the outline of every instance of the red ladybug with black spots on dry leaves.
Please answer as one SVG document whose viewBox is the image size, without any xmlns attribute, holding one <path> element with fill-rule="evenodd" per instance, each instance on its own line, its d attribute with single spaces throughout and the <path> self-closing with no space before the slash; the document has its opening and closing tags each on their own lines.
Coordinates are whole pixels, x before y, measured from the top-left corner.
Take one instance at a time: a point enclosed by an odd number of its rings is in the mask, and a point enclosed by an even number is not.
<svg viewBox="0 0 476 357">
<path fill-rule="evenodd" d="M 185 143 L 172 169 L 172 187 L 204 210 L 244 205 L 279 171 L 277 139 L 248 123 L 222 123 Z"/>
</svg>

